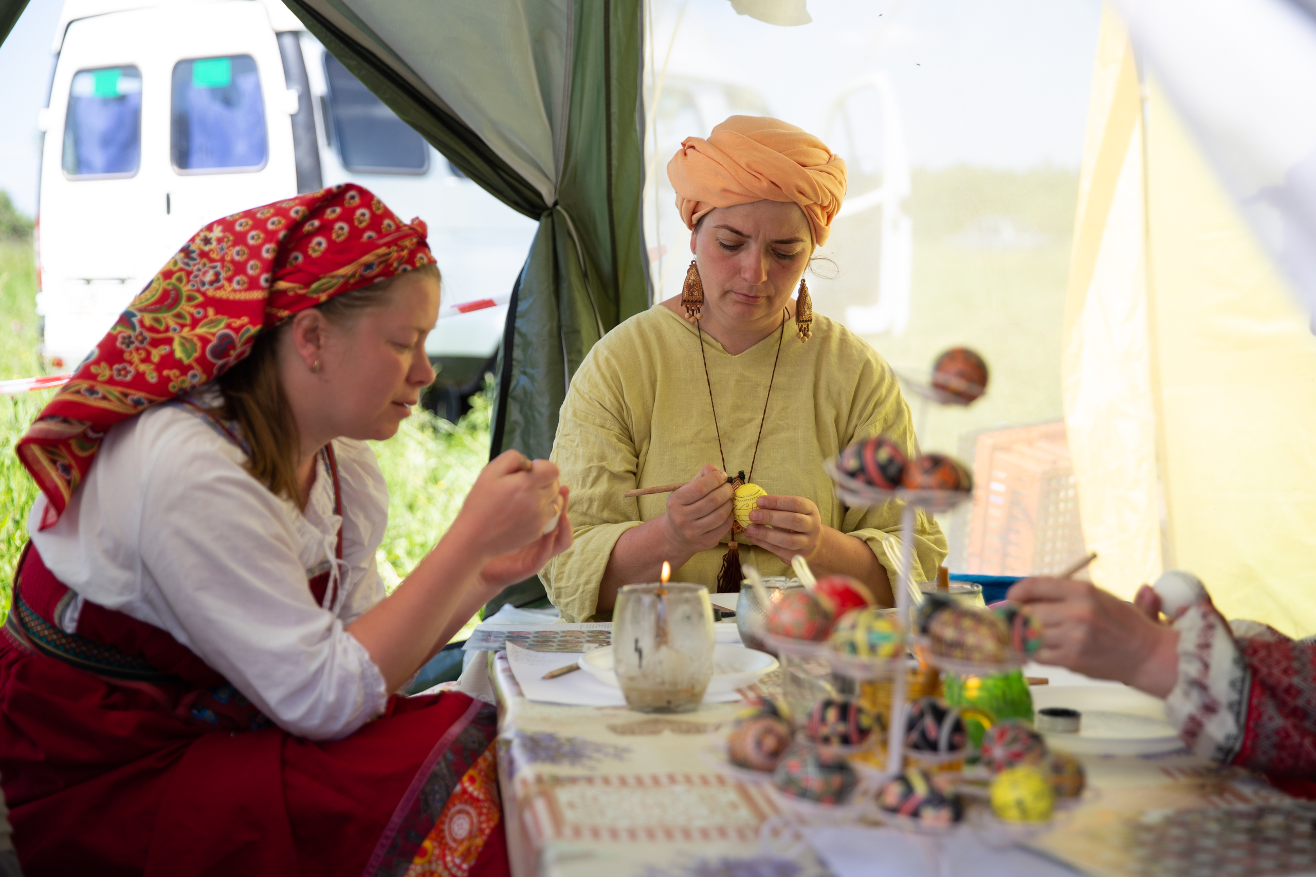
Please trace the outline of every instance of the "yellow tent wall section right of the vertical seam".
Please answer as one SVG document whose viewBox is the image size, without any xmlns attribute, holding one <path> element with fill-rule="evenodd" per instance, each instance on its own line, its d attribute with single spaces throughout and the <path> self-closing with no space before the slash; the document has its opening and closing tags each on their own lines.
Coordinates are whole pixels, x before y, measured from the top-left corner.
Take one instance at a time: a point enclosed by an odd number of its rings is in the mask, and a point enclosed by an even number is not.
<svg viewBox="0 0 1316 877">
<path fill-rule="evenodd" d="M 1152 80 L 1148 201 L 1174 563 L 1230 618 L 1316 634 L 1316 338 Z"/>
</svg>

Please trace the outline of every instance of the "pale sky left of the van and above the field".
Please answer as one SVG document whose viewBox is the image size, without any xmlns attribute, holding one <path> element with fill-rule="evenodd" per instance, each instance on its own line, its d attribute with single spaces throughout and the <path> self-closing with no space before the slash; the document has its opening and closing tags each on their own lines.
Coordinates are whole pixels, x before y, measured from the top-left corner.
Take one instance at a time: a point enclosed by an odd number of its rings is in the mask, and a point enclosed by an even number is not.
<svg viewBox="0 0 1316 877">
<path fill-rule="evenodd" d="M 29 214 L 61 7 L 30 0 L 0 46 L 0 189 Z M 1078 167 L 1096 0 L 808 0 L 808 11 L 813 24 L 776 28 L 725 0 L 654 0 L 654 43 L 659 55 L 671 45 L 671 71 L 751 85 L 807 128 L 829 105 L 820 82 L 882 70 L 915 167 Z"/>
</svg>

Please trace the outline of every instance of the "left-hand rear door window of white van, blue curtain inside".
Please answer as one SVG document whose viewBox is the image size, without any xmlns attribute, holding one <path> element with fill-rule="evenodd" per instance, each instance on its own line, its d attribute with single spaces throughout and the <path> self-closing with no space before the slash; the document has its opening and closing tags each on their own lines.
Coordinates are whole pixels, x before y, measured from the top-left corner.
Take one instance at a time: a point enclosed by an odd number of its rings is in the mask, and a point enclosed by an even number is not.
<svg viewBox="0 0 1316 877">
<path fill-rule="evenodd" d="M 64 174 L 133 176 L 142 154 L 142 74 L 137 67 L 79 70 L 64 117 Z"/>
</svg>

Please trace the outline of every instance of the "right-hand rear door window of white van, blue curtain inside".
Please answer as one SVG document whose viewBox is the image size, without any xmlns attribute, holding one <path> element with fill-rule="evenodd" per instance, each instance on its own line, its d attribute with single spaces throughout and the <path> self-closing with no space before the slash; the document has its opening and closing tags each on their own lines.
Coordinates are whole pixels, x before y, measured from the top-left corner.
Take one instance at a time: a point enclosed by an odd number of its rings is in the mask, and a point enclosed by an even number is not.
<svg viewBox="0 0 1316 877">
<path fill-rule="evenodd" d="M 265 100 L 251 55 L 178 62 L 171 107 L 174 170 L 232 174 L 265 167 Z"/>
</svg>

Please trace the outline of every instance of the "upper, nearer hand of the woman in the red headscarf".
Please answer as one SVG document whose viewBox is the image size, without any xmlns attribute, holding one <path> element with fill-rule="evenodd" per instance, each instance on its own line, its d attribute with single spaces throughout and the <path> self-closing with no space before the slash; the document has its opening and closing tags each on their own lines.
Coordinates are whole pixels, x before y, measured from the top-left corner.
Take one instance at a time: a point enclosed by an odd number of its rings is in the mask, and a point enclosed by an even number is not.
<svg viewBox="0 0 1316 877">
<path fill-rule="evenodd" d="M 544 527 L 563 502 L 555 463 L 505 451 L 475 479 L 449 533 L 488 560 L 542 542 Z"/>
</svg>

